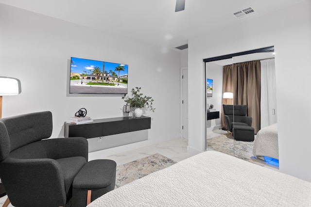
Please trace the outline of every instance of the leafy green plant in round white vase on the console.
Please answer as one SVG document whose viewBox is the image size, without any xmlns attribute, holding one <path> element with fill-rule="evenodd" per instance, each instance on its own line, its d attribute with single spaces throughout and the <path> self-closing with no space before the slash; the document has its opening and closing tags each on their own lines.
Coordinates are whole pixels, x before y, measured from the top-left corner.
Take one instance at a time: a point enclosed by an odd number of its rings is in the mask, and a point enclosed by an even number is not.
<svg viewBox="0 0 311 207">
<path fill-rule="evenodd" d="M 155 108 L 153 108 L 154 99 L 150 96 L 144 96 L 140 93 L 141 87 L 132 88 L 132 97 L 124 95 L 122 99 L 126 102 L 126 105 L 130 105 L 132 108 L 132 116 L 140 117 L 142 115 L 141 108 L 146 108 L 152 112 L 155 112 Z M 134 111 L 133 111 L 134 110 Z"/>
</svg>

